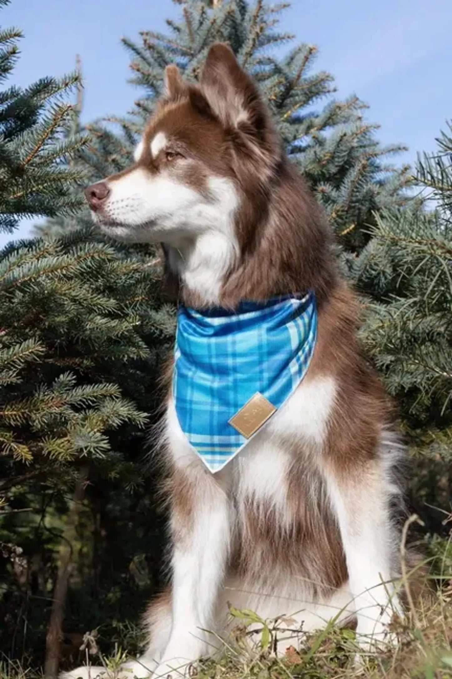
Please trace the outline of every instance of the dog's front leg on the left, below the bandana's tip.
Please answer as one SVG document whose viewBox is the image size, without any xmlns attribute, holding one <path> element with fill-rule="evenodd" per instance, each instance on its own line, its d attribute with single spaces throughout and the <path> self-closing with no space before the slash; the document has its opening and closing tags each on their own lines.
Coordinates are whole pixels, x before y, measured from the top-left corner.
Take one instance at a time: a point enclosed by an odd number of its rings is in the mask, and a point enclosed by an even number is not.
<svg viewBox="0 0 452 679">
<path fill-rule="evenodd" d="M 230 538 L 226 493 L 194 461 L 173 477 L 172 626 L 154 676 L 186 673 L 212 648 L 213 610 L 224 576 Z"/>
</svg>

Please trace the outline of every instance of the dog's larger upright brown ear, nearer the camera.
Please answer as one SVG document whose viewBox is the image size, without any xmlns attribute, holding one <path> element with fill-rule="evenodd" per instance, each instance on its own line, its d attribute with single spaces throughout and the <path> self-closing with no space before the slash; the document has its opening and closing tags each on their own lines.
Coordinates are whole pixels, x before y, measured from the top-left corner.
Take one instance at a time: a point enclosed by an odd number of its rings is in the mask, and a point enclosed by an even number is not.
<svg viewBox="0 0 452 679">
<path fill-rule="evenodd" d="M 243 123 L 244 128 L 247 124 L 260 132 L 268 122 L 258 88 L 241 69 L 226 43 L 211 46 L 201 74 L 201 88 L 212 110 L 226 126 L 238 127 Z"/>
</svg>

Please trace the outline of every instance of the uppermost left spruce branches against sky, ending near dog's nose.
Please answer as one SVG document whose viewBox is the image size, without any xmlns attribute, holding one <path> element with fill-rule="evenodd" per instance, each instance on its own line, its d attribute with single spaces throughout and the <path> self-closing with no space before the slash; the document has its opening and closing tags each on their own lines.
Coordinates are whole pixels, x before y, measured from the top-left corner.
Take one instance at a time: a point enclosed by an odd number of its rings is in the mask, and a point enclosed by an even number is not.
<svg viewBox="0 0 452 679">
<path fill-rule="evenodd" d="M 0 10 L 9 0 L 0 0 Z M 73 134 L 74 107 L 68 98 L 77 73 L 43 77 L 27 88 L 7 86 L 19 54 L 18 29 L 0 30 L 0 230 L 12 232 L 22 217 L 68 215 L 81 206 L 70 190 L 81 167 L 68 158 L 86 135 Z"/>
</svg>

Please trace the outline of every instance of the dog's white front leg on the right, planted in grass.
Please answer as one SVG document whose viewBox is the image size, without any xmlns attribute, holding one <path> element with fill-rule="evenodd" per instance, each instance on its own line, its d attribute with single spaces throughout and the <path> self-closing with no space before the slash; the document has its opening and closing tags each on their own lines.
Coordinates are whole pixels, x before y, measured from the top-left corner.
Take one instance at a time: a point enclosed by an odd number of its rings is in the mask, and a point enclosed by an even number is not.
<svg viewBox="0 0 452 679">
<path fill-rule="evenodd" d="M 348 473 L 328 465 L 325 477 L 346 556 L 356 639 L 375 648 L 390 640 L 388 625 L 400 610 L 392 580 L 398 534 L 390 519 L 390 480 L 379 460 Z"/>
</svg>

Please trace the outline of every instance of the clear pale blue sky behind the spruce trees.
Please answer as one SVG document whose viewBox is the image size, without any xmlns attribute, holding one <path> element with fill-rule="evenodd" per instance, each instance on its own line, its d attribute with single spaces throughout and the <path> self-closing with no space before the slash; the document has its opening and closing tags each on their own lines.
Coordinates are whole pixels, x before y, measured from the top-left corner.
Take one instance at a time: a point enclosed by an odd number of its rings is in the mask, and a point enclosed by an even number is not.
<svg viewBox="0 0 452 679">
<path fill-rule="evenodd" d="M 179 14 L 171 0 L 12 0 L 0 23 L 19 26 L 25 37 L 11 82 L 66 73 L 80 54 L 84 119 L 121 115 L 138 95 L 127 84 L 121 36 L 164 31 L 165 18 Z M 334 75 L 338 97 L 355 93 L 369 104 L 382 143 L 409 146 L 400 163 L 434 149 L 452 117 L 451 0 L 293 0 L 281 29 L 318 46 L 316 68 Z M 22 223 L 14 237 L 29 228 Z M 11 238 L 0 234 L 0 246 Z"/>
</svg>

